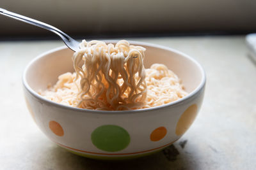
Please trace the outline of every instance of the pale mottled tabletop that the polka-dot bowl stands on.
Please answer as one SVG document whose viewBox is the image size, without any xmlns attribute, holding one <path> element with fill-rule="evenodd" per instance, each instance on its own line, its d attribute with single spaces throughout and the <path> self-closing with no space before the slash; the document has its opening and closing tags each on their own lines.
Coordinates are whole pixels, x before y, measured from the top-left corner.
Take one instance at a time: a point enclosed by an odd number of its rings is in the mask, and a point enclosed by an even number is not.
<svg viewBox="0 0 256 170">
<path fill-rule="evenodd" d="M 52 143 L 29 116 L 22 71 L 61 41 L 0 41 L 0 169 L 255 169 L 256 62 L 244 36 L 132 38 L 170 46 L 205 69 L 204 103 L 188 132 L 163 152 L 104 162 L 79 157 Z"/>
</svg>

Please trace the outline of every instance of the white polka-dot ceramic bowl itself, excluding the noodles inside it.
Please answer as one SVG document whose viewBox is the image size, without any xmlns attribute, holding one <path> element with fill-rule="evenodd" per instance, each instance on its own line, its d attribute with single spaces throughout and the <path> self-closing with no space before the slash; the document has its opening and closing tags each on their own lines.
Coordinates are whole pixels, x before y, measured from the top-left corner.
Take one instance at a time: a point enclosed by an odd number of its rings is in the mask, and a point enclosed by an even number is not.
<svg viewBox="0 0 256 170">
<path fill-rule="evenodd" d="M 106 41 L 116 43 L 117 41 Z M 193 123 L 204 97 L 205 73 L 188 55 L 149 43 L 145 67 L 168 66 L 189 95 L 154 108 L 131 111 L 95 111 L 54 103 L 38 94 L 54 85 L 60 74 L 73 72 L 73 52 L 66 46 L 45 52 L 26 67 L 23 87 L 28 110 L 36 125 L 57 145 L 93 159 L 131 159 L 163 150 L 177 141 Z"/>
</svg>

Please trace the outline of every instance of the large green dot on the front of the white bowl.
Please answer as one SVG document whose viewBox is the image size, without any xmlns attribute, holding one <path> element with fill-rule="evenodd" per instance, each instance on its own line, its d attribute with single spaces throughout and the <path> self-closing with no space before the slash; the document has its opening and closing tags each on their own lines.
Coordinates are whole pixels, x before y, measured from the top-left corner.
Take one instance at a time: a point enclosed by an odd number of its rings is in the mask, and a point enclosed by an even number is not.
<svg viewBox="0 0 256 170">
<path fill-rule="evenodd" d="M 102 125 L 92 132 L 92 143 L 100 150 L 116 152 L 130 143 L 130 136 L 124 128 L 117 125 Z"/>
</svg>

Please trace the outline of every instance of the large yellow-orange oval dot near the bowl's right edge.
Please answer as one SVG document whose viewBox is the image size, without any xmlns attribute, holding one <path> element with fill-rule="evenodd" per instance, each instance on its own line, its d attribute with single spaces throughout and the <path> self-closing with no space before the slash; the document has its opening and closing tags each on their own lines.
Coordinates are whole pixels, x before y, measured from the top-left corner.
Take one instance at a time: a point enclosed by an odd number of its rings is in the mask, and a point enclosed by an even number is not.
<svg viewBox="0 0 256 170">
<path fill-rule="evenodd" d="M 176 126 L 176 131 L 175 133 L 180 136 L 186 132 L 191 124 L 194 122 L 196 118 L 196 113 L 197 113 L 197 106 L 196 104 L 192 104 L 189 106 L 187 110 L 182 113 L 182 115 L 179 118 L 179 122 Z"/>
</svg>

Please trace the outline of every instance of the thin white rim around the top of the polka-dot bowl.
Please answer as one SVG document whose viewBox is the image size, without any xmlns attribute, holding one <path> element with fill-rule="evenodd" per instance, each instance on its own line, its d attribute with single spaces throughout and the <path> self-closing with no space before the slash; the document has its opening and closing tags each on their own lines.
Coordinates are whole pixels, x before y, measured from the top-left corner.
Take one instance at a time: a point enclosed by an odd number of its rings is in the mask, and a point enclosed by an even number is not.
<svg viewBox="0 0 256 170">
<path fill-rule="evenodd" d="M 106 43 L 116 43 L 119 40 L 118 39 L 103 39 L 103 40 L 100 40 L 100 41 L 105 41 Z M 31 89 L 31 87 L 28 85 L 28 82 L 26 80 L 26 74 L 28 73 L 28 69 L 31 66 L 31 64 L 33 64 L 36 60 L 44 57 L 45 55 L 49 55 L 51 53 L 58 52 L 60 50 L 64 50 L 64 49 L 68 48 L 67 46 L 60 46 L 60 47 L 48 50 L 44 53 L 41 53 L 40 55 L 37 55 L 33 60 L 31 60 L 28 63 L 28 65 L 25 67 L 24 72 L 22 74 L 22 83 L 23 83 L 25 89 L 28 90 L 28 92 L 30 94 L 32 94 L 32 96 L 34 96 L 37 99 L 39 99 L 41 101 L 44 101 L 45 103 L 48 103 L 52 106 L 56 106 L 58 108 L 64 108 L 66 110 L 83 112 L 83 113 L 93 113 L 93 114 L 98 113 L 98 114 L 104 114 L 104 115 L 106 115 L 106 114 L 117 114 L 117 113 L 121 113 L 121 114 L 141 113 L 141 112 L 145 112 L 145 111 L 159 110 L 161 108 L 175 106 L 177 104 L 184 103 L 185 101 L 188 101 L 189 99 L 191 99 L 191 97 L 195 96 L 198 92 L 200 92 L 200 90 L 204 89 L 205 81 L 206 81 L 206 75 L 205 75 L 204 68 L 195 59 L 193 59 L 192 57 L 190 57 L 186 53 L 180 52 L 179 50 L 175 50 L 175 49 L 167 47 L 167 46 L 156 45 L 156 44 L 153 44 L 153 43 L 145 43 L 145 42 L 141 42 L 141 41 L 128 41 L 128 42 L 130 44 L 136 44 L 136 45 L 141 45 L 141 46 L 145 45 L 145 46 L 151 46 L 151 47 L 154 47 L 154 48 L 161 48 L 163 50 L 168 50 L 168 51 L 177 53 L 179 55 L 182 55 L 183 57 L 186 57 L 187 59 L 194 62 L 196 64 L 196 66 L 199 68 L 200 72 L 202 73 L 202 80 L 200 81 L 200 83 L 196 87 L 196 89 L 193 90 L 192 92 L 190 92 L 188 94 L 188 96 L 182 97 L 181 99 L 178 99 L 177 101 L 173 101 L 171 103 L 163 104 L 161 106 L 154 106 L 152 108 L 143 108 L 143 109 L 140 109 L 140 110 L 107 111 L 107 110 L 88 110 L 88 109 L 83 109 L 83 108 L 75 108 L 75 107 L 72 107 L 72 106 L 66 106 L 64 104 L 56 103 L 56 102 L 50 101 L 50 100 L 45 99 L 44 97 L 40 96 L 40 94 L 35 92 L 35 90 Z"/>
</svg>

